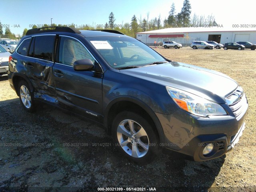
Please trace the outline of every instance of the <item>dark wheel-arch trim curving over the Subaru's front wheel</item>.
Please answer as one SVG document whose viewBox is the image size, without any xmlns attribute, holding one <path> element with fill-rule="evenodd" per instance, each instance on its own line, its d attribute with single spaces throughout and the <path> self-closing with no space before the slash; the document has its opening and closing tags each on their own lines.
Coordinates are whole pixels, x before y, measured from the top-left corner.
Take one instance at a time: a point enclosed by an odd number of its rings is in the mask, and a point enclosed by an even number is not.
<svg viewBox="0 0 256 192">
<path fill-rule="evenodd" d="M 137 104 L 138 106 L 140 106 L 142 109 L 144 109 L 148 115 L 152 118 L 154 124 L 156 125 L 156 129 L 159 135 L 159 139 L 160 142 L 164 142 L 165 143 L 165 137 L 164 137 L 164 132 L 163 132 L 163 128 L 162 125 L 160 124 L 160 121 L 158 119 L 158 117 L 156 116 L 156 114 L 154 113 L 154 111 L 147 105 L 145 104 L 143 101 L 139 100 L 138 98 L 132 97 L 132 96 L 119 96 L 117 98 L 115 98 L 114 100 L 112 100 L 108 106 L 106 107 L 106 109 L 104 110 L 104 126 L 107 128 L 108 127 L 108 114 L 110 112 L 110 108 L 116 104 L 117 102 L 120 101 L 128 101 L 128 102 L 132 102 L 134 104 Z"/>
</svg>

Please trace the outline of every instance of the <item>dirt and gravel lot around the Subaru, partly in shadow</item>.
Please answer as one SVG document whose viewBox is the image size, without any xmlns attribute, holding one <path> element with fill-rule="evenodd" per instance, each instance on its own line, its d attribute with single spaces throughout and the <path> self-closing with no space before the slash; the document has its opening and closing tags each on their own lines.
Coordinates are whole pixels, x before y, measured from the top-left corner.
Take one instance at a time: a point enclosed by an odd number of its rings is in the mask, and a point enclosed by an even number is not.
<svg viewBox="0 0 256 192">
<path fill-rule="evenodd" d="M 97 124 L 46 105 L 25 112 L 7 78 L 0 78 L 0 191 L 256 191 L 256 51 L 156 50 L 170 60 L 223 72 L 244 88 L 249 114 L 234 150 L 207 162 L 161 154 L 138 166 L 120 156 Z"/>
</svg>

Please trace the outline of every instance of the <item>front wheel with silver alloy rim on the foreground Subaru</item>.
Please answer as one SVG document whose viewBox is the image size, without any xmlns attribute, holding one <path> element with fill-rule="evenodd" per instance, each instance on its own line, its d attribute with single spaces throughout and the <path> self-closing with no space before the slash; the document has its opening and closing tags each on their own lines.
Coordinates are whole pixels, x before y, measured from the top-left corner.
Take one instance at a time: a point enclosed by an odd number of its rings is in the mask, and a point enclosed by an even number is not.
<svg viewBox="0 0 256 192">
<path fill-rule="evenodd" d="M 133 125 L 133 131 L 130 129 L 130 124 Z M 139 136 L 138 133 L 143 133 L 142 135 L 146 133 L 146 136 Z M 151 162 L 159 152 L 158 134 L 145 118 L 134 112 L 124 111 L 114 118 L 112 137 L 118 150 L 126 158 L 141 165 Z M 125 144 L 121 146 L 124 142 Z"/>
</svg>

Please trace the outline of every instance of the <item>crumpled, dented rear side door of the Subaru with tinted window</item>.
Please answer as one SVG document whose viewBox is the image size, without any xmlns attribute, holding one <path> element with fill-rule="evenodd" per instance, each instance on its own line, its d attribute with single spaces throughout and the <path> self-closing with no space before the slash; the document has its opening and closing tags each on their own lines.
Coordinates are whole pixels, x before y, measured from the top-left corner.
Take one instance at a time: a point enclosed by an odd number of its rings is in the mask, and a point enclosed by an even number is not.
<svg viewBox="0 0 256 192">
<path fill-rule="evenodd" d="M 51 72 L 54 64 L 55 38 L 56 35 L 54 34 L 33 36 L 24 40 L 17 50 L 19 54 L 26 54 L 27 56 L 23 65 L 26 69 L 26 76 L 34 86 L 35 98 L 50 102 L 56 102 Z M 24 52 L 27 48 L 29 48 L 29 52 Z"/>
</svg>

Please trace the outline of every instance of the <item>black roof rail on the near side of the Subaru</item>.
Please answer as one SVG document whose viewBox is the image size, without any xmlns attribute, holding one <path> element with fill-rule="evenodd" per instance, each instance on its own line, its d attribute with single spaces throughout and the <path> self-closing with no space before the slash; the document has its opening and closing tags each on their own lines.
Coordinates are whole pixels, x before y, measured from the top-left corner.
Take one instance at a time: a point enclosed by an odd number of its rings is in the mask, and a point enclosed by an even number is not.
<svg viewBox="0 0 256 192">
<path fill-rule="evenodd" d="M 49 29 L 52 28 L 52 29 Z M 45 33 L 45 32 L 69 32 L 69 33 L 81 33 L 78 29 L 73 27 L 62 27 L 62 26 L 50 26 L 34 28 L 27 31 L 26 35 Z"/>
</svg>

